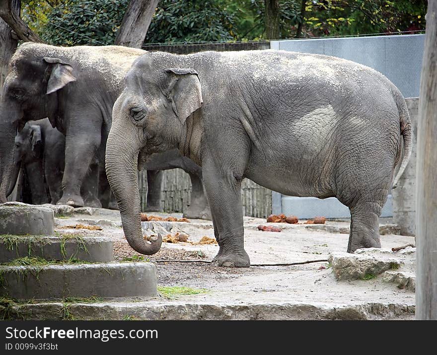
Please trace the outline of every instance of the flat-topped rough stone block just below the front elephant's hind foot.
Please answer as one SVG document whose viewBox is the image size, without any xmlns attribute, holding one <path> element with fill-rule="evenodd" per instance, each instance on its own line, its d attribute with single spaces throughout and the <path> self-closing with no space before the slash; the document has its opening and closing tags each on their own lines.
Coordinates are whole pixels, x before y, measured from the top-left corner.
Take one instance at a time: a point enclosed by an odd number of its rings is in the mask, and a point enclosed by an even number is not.
<svg viewBox="0 0 437 355">
<path fill-rule="evenodd" d="M 357 280 L 377 276 L 384 271 L 398 269 L 400 262 L 385 255 L 362 255 L 343 252 L 328 257 L 337 280 Z"/>
</svg>

